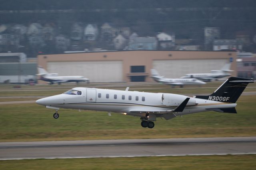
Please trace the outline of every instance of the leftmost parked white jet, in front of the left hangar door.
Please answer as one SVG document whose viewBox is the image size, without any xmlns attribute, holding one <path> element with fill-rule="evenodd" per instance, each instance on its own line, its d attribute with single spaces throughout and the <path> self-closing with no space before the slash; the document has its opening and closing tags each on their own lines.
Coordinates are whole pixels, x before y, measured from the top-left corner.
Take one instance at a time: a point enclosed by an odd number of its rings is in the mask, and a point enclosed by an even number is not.
<svg viewBox="0 0 256 170">
<path fill-rule="evenodd" d="M 43 81 L 49 81 L 50 84 L 53 83 L 67 83 L 67 82 L 81 82 L 81 81 L 86 81 L 89 83 L 89 79 L 79 76 L 79 75 L 73 75 L 73 76 L 58 76 L 58 73 L 48 73 L 42 66 L 37 67 L 38 74 L 40 75 L 39 80 Z"/>
</svg>

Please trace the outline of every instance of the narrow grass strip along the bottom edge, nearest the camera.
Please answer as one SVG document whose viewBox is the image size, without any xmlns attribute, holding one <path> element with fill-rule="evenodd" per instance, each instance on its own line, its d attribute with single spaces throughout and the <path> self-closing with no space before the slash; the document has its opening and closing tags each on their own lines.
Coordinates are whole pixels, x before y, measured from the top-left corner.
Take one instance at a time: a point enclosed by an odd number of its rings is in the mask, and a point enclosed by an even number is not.
<svg viewBox="0 0 256 170">
<path fill-rule="evenodd" d="M 0 160 L 1 170 L 253 170 L 256 155 Z"/>
</svg>

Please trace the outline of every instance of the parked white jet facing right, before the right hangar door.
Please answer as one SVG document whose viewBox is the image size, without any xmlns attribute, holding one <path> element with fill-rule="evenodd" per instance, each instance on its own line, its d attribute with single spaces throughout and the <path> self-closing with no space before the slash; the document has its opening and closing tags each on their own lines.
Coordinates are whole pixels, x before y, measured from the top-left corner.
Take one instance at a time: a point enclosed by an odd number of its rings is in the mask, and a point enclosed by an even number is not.
<svg viewBox="0 0 256 170">
<path fill-rule="evenodd" d="M 174 87 L 175 85 L 179 85 L 180 87 L 183 87 L 183 85 L 204 85 L 206 84 L 203 81 L 200 81 L 198 79 L 169 79 L 164 78 L 164 76 L 160 76 L 158 71 L 156 69 L 151 69 L 151 77 L 154 79 L 154 81 L 157 81 L 159 83 L 164 83 L 167 85 L 172 85 Z"/>
</svg>

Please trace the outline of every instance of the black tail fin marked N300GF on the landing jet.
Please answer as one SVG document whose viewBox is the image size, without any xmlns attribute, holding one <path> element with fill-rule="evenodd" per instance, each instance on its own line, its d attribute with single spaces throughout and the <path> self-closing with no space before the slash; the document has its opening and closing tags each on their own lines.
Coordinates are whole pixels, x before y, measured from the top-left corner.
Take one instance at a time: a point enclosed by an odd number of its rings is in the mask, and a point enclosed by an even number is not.
<svg viewBox="0 0 256 170">
<path fill-rule="evenodd" d="M 208 96 L 194 96 L 199 99 L 236 103 L 244 89 L 249 83 L 255 82 L 254 79 L 240 77 L 229 77 L 214 93 Z"/>
</svg>

